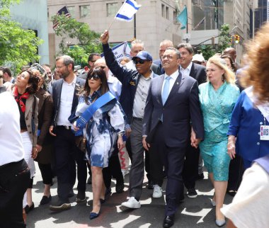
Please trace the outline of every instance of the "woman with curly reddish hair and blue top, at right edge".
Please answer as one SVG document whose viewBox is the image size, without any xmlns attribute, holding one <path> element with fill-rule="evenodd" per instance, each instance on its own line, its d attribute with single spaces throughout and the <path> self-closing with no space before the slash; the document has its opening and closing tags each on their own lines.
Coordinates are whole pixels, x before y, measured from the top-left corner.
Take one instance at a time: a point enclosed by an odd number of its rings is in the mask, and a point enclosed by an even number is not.
<svg viewBox="0 0 269 228">
<path fill-rule="evenodd" d="M 247 45 L 248 69 L 241 78 L 245 89 L 234 107 L 229 125 L 228 153 L 239 154 L 244 167 L 269 154 L 269 24 Z M 266 35 L 267 34 L 267 35 Z"/>
</svg>

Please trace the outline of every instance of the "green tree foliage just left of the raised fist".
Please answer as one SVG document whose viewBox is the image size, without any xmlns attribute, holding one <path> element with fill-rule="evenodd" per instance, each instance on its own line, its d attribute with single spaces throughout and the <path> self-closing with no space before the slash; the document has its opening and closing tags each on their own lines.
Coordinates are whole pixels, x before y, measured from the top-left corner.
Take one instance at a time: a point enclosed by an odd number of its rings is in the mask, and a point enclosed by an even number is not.
<svg viewBox="0 0 269 228">
<path fill-rule="evenodd" d="M 74 18 L 67 18 L 64 15 L 52 16 L 52 21 L 58 23 L 55 34 L 62 37 L 58 54 L 70 55 L 75 59 L 76 64 L 84 67 L 88 64 L 89 53 L 103 52 L 99 41 L 100 33 L 91 30 L 87 23 L 76 21 Z M 67 38 L 73 39 L 73 42 L 76 40 L 76 45 L 69 47 Z"/>
</svg>

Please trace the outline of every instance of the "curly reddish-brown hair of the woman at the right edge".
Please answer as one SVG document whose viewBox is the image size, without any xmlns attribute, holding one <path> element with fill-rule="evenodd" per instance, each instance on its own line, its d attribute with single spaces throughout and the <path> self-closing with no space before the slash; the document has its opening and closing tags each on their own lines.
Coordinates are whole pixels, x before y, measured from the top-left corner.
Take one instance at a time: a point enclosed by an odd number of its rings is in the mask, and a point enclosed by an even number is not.
<svg viewBox="0 0 269 228">
<path fill-rule="evenodd" d="M 269 101 L 269 23 L 265 23 L 256 33 L 254 40 L 246 45 L 248 69 L 241 77 L 242 86 L 253 86 L 258 103 Z"/>
</svg>

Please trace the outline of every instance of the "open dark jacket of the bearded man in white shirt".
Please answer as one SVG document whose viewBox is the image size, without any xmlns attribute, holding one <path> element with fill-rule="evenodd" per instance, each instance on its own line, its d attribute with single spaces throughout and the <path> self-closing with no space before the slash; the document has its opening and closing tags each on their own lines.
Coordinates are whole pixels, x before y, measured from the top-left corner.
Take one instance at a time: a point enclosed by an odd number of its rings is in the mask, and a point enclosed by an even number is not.
<svg viewBox="0 0 269 228">
<path fill-rule="evenodd" d="M 57 81 L 54 81 L 52 84 L 52 100 L 53 100 L 53 118 L 52 118 L 52 125 L 56 125 L 56 120 L 57 120 L 57 114 L 59 110 L 59 102 L 61 101 L 61 93 L 62 93 L 62 83 L 64 82 L 64 79 L 59 79 Z M 76 109 L 76 106 L 79 103 L 79 89 L 81 86 L 84 86 L 85 80 L 80 79 L 79 77 L 76 77 L 76 86 L 73 94 L 73 103 L 72 103 L 72 108 L 71 108 L 71 113 L 74 113 L 74 110 Z M 68 94 L 71 96 L 71 94 Z M 71 114 L 70 113 L 70 114 Z"/>
</svg>

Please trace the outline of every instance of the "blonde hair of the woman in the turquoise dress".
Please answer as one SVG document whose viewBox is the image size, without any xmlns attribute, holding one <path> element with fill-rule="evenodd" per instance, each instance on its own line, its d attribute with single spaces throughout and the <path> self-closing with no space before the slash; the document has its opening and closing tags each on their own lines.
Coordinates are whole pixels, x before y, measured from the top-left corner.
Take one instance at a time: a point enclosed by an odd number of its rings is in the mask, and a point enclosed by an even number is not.
<svg viewBox="0 0 269 228">
<path fill-rule="evenodd" d="M 236 78 L 234 72 L 232 72 L 231 69 L 227 67 L 227 64 L 224 59 L 221 59 L 218 56 L 212 56 L 210 59 L 208 59 L 207 64 L 214 64 L 220 69 L 223 69 L 224 70 L 223 77 L 225 81 L 227 81 L 227 83 L 229 84 L 235 84 Z"/>
</svg>

